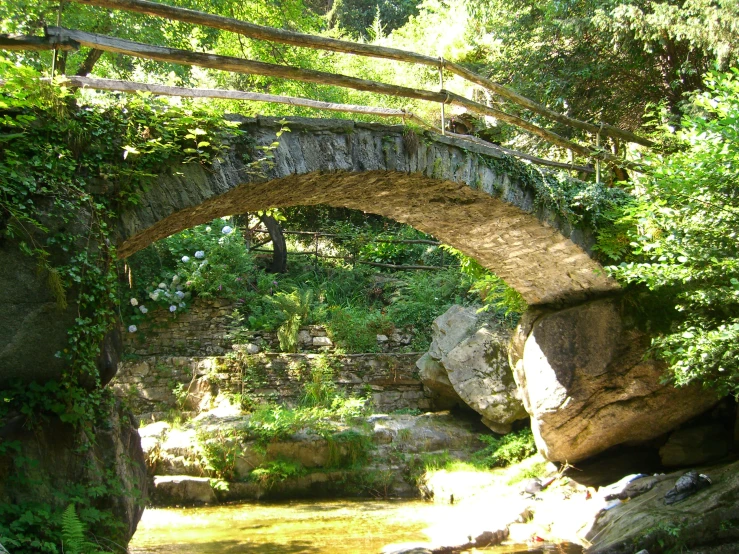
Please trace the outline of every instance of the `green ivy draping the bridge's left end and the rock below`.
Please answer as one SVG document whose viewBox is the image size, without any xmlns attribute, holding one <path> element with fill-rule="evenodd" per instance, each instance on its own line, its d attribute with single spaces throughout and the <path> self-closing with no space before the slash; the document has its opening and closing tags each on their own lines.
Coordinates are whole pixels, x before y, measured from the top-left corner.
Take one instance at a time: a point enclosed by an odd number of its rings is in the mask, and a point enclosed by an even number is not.
<svg viewBox="0 0 739 554">
<path fill-rule="evenodd" d="M 74 309 L 67 344 L 56 353 L 60 377 L 5 383 L 0 427 L 58 418 L 87 437 L 77 446 L 89 448 L 113 402 L 100 387 L 98 359 L 103 338 L 118 325 L 116 215 L 166 168 L 210 164 L 242 133 L 215 112 L 145 96 L 75 93 L 3 59 L 0 79 L 0 244 L 34 261 L 61 311 Z M 33 486 L 34 461 L 18 448 L 0 440 L 0 456 L 15 462 L 10 481 Z M 74 496 L 82 504 L 115 493 L 79 487 Z M 58 516 L 71 494 L 0 510 L 2 542 L 13 552 L 57 552 Z M 105 519 L 95 511 L 80 516 L 86 524 Z"/>
</svg>

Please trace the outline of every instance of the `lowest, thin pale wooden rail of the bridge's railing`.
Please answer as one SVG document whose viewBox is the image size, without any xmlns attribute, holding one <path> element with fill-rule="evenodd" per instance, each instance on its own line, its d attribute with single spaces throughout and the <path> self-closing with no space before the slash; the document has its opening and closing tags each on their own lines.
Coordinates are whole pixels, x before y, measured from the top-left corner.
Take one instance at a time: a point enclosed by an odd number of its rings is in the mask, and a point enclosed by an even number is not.
<svg viewBox="0 0 739 554">
<path fill-rule="evenodd" d="M 95 77 L 78 77 L 68 76 L 67 81 L 73 86 L 77 87 L 88 87 L 96 90 L 111 90 L 127 93 L 135 92 L 150 92 L 152 94 L 162 96 L 180 96 L 187 98 L 221 98 L 226 100 L 247 100 L 255 102 L 270 102 L 276 104 L 286 104 L 290 106 L 302 106 L 308 108 L 314 108 L 319 110 L 328 110 L 345 113 L 360 113 L 365 115 L 374 115 L 380 117 L 398 117 L 409 119 L 419 123 L 420 125 L 427 127 L 428 129 L 440 133 L 441 129 L 431 125 L 424 121 L 417 115 L 406 110 L 394 109 L 394 108 L 378 108 L 374 106 L 359 106 L 356 104 L 335 104 L 332 102 L 323 102 L 320 100 L 311 100 L 308 98 L 300 98 L 294 96 L 278 96 L 274 94 L 263 94 L 256 92 L 244 92 L 239 90 L 226 90 L 226 89 L 193 89 L 186 87 L 174 87 L 168 85 L 156 85 L 150 83 L 137 83 L 133 81 L 119 81 L 115 79 L 99 79 Z M 528 160 L 532 163 L 556 167 L 559 169 L 574 170 L 582 173 L 594 173 L 595 170 L 589 166 L 573 165 L 562 162 L 555 162 L 552 160 L 546 160 L 531 154 L 519 152 L 517 150 L 511 150 L 497 144 L 484 141 L 478 137 L 471 135 L 459 135 L 456 133 L 446 132 L 447 136 L 452 138 L 473 142 L 478 146 L 485 149 L 489 149 L 491 154 L 507 154 L 524 160 Z"/>
</svg>

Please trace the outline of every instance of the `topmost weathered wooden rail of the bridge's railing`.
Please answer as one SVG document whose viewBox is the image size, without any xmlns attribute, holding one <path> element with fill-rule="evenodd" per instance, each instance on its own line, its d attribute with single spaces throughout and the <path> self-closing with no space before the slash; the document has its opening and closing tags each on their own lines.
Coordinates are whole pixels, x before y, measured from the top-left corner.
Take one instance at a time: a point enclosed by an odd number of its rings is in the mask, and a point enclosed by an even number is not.
<svg viewBox="0 0 739 554">
<path fill-rule="evenodd" d="M 417 63 L 427 66 L 443 67 L 444 69 L 459 75 L 460 77 L 467 79 L 468 81 L 475 83 L 483 88 L 490 90 L 491 92 L 505 98 L 506 100 L 513 102 L 523 108 L 531 110 L 532 112 L 543 115 L 554 121 L 576 127 L 581 130 L 589 131 L 594 134 L 602 134 L 604 136 L 610 136 L 619 138 L 628 142 L 635 142 L 644 146 L 653 146 L 652 141 L 639 137 L 629 131 L 624 131 L 618 127 L 612 125 L 594 125 L 585 121 L 580 121 L 573 117 L 555 112 L 550 110 L 546 106 L 543 106 L 533 100 L 530 100 L 514 90 L 500 85 L 475 74 L 474 72 L 462 67 L 459 64 L 449 62 L 443 59 L 434 58 L 432 56 L 426 56 L 423 54 L 417 54 L 415 52 L 409 52 L 398 48 L 388 48 L 386 46 L 376 46 L 372 44 L 360 44 L 356 42 L 339 40 L 328 37 L 320 37 L 315 35 L 308 35 L 304 33 L 296 33 L 293 31 L 286 31 L 283 29 L 275 29 L 273 27 L 265 27 L 262 25 L 256 25 L 246 21 L 240 21 L 229 17 L 220 15 L 209 14 L 196 10 L 190 10 L 186 8 L 179 8 L 176 6 L 170 6 L 167 4 L 161 4 L 158 2 L 150 2 L 148 0 L 72 0 L 80 4 L 87 4 L 90 6 L 98 6 L 103 8 L 122 9 L 142 13 L 146 15 L 154 15 L 165 19 L 171 19 L 176 21 L 182 21 L 185 23 L 192 23 L 195 25 L 205 25 L 224 31 L 230 31 L 238 33 L 240 35 L 259 39 L 267 40 L 272 42 L 279 42 L 282 44 L 289 44 L 292 46 L 302 46 L 312 49 L 329 50 L 334 52 L 343 52 L 346 54 L 355 54 L 359 56 L 368 56 L 374 58 L 384 58 L 396 61 L 403 61 L 409 63 Z"/>
</svg>

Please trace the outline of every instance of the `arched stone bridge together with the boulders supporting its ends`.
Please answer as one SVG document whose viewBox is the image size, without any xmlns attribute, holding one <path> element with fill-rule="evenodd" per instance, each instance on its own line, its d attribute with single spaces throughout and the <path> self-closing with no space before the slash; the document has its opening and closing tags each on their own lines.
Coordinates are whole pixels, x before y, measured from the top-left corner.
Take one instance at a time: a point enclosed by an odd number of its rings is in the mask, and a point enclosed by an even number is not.
<svg viewBox="0 0 739 554">
<path fill-rule="evenodd" d="M 275 142 L 282 123 L 240 124 L 249 141 L 212 167 L 172 166 L 121 214 L 120 256 L 218 216 L 319 203 L 365 210 L 473 256 L 531 305 L 509 359 L 549 459 L 651 440 L 716 402 L 710 391 L 666 385 L 662 366 L 644 360 L 649 336 L 624 317 L 612 294 L 618 285 L 588 255 L 588 231 L 537 207 L 535 191 L 516 177 L 519 162 L 449 137 L 419 140 L 401 126 L 291 118 L 257 170 L 250 160 Z M 58 311 L 33 261 L 8 245 L 0 244 L 0 384 L 56 379 L 64 367 L 54 353 L 67 346 L 77 307 Z M 103 344 L 103 383 L 117 369 L 119 339 L 114 330 Z"/>
</svg>

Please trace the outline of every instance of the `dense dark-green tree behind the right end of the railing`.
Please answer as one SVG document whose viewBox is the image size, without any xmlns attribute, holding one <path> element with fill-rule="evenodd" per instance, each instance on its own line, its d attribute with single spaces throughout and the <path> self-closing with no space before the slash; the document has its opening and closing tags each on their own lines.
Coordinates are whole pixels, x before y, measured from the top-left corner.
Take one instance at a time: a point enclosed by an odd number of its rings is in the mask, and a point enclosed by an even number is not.
<svg viewBox="0 0 739 554">
<path fill-rule="evenodd" d="M 467 0 L 468 62 L 579 119 L 636 130 L 648 103 L 679 114 L 714 64 L 739 56 L 736 0 Z M 525 69 L 524 69 L 525 68 Z M 571 131 L 561 129 L 563 134 Z"/>
</svg>

